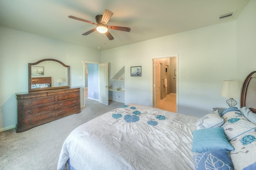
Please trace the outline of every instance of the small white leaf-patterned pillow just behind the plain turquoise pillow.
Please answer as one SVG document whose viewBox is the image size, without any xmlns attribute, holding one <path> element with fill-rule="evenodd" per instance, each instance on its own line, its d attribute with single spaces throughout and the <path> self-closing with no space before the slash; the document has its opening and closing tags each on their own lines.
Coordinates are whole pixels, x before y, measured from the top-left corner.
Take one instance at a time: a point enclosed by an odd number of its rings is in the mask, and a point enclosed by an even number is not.
<svg viewBox="0 0 256 170">
<path fill-rule="evenodd" d="M 223 123 L 224 119 L 220 117 L 218 111 L 213 111 L 197 119 L 196 130 L 207 129 L 211 127 L 221 127 Z"/>
</svg>

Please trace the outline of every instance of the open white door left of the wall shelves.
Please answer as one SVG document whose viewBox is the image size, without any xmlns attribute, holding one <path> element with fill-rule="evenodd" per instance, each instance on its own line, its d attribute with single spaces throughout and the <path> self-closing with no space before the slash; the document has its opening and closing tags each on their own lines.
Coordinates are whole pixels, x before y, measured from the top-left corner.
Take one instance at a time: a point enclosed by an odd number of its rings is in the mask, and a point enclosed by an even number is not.
<svg viewBox="0 0 256 170">
<path fill-rule="evenodd" d="M 108 106 L 108 63 L 99 64 L 99 102 Z"/>
</svg>

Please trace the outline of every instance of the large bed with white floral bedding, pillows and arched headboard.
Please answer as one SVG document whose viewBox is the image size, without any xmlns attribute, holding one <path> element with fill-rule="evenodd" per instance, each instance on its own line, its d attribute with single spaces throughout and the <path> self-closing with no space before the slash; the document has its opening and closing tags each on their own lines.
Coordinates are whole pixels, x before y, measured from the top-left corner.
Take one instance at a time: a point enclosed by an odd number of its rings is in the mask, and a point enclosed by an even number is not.
<svg viewBox="0 0 256 170">
<path fill-rule="evenodd" d="M 242 110 L 231 107 L 203 117 L 138 104 L 116 108 L 70 133 L 57 169 L 255 170 L 255 87 L 252 72 L 242 87 Z"/>
</svg>

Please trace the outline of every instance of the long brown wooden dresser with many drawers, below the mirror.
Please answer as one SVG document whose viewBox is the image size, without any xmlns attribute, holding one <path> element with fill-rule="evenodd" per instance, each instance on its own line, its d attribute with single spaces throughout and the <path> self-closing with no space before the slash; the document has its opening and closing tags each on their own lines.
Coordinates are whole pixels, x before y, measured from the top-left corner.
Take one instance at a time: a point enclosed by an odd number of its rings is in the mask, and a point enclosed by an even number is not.
<svg viewBox="0 0 256 170">
<path fill-rule="evenodd" d="M 80 113 L 80 88 L 16 93 L 18 123 L 16 133 Z"/>
</svg>

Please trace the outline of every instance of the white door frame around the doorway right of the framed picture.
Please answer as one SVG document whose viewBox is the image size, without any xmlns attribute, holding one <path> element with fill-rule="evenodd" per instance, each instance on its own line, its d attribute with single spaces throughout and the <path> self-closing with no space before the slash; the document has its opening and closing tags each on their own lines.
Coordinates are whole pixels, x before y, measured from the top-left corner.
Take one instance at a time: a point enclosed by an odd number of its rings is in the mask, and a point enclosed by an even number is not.
<svg viewBox="0 0 256 170">
<path fill-rule="evenodd" d="M 164 59 L 164 58 L 171 58 L 176 57 L 176 113 L 179 113 L 179 64 L 178 64 L 178 54 L 175 55 L 166 55 L 166 56 L 158 56 L 158 57 L 151 57 L 151 92 L 152 92 L 152 107 L 154 107 L 154 59 Z"/>
</svg>

